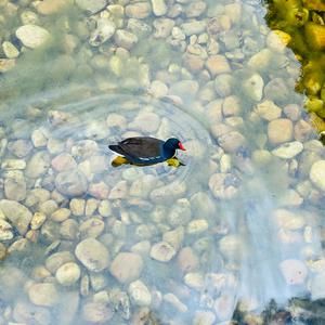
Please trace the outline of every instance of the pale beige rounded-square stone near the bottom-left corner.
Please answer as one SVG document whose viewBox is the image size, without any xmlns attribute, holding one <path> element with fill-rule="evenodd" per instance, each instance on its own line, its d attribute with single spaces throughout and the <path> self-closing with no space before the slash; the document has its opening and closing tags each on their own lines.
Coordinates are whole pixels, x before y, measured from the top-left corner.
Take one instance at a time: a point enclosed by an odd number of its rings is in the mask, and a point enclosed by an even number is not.
<svg viewBox="0 0 325 325">
<path fill-rule="evenodd" d="M 58 294 L 53 283 L 36 283 L 28 289 L 28 297 L 34 304 L 52 307 L 58 301 Z"/>
</svg>

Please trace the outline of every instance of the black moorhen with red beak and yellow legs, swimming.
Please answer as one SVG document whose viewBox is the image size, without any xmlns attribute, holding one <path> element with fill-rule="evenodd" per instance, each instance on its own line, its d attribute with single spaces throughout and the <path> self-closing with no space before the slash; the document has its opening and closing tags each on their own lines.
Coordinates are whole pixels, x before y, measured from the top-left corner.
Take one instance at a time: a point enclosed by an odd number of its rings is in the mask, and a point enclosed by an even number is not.
<svg viewBox="0 0 325 325">
<path fill-rule="evenodd" d="M 173 159 L 173 161 L 169 165 L 179 166 L 183 164 L 174 157 L 176 151 L 185 151 L 181 141 L 176 138 L 162 141 L 151 136 L 128 138 L 118 144 L 110 144 L 108 147 L 122 155 L 122 157 L 116 157 L 112 161 L 114 167 L 123 164 L 148 166 L 170 159 Z"/>
</svg>

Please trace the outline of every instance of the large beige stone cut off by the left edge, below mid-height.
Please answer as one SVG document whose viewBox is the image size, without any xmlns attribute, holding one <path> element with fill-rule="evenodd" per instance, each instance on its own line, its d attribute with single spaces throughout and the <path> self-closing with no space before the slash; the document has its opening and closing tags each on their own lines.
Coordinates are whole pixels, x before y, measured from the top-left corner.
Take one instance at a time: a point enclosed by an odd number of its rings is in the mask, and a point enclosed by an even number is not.
<svg viewBox="0 0 325 325">
<path fill-rule="evenodd" d="M 25 206 L 15 200 L 1 199 L 0 210 L 17 229 L 21 235 L 26 234 L 32 214 Z"/>
</svg>

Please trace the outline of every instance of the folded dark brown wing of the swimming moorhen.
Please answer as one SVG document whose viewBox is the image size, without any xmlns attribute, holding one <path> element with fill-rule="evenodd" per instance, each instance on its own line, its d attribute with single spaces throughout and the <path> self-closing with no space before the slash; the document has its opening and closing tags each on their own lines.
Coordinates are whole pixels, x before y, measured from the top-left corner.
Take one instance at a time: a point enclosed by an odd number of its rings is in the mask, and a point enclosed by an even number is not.
<svg viewBox="0 0 325 325">
<path fill-rule="evenodd" d="M 126 139 L 118 145 L 131 157 L 152 158 L 161 156 L 164 141 L 150 136 L 139 136 Z"/>
</svg>

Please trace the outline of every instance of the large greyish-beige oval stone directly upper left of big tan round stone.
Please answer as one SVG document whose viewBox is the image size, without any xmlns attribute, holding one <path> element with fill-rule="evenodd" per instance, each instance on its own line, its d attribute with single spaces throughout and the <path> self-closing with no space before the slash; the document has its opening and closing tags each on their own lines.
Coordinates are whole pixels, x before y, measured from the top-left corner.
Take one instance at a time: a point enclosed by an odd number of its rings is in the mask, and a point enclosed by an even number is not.
<svg viewBox="0 0 325 325">
<path fill-rule="evenodd" d="M 94 238 L 80 242 L 75 250 L 78 260 L 92 272 L 101 272 L 108 268 L 108 249 Z"/>
</svg>

